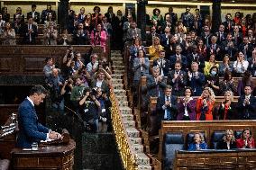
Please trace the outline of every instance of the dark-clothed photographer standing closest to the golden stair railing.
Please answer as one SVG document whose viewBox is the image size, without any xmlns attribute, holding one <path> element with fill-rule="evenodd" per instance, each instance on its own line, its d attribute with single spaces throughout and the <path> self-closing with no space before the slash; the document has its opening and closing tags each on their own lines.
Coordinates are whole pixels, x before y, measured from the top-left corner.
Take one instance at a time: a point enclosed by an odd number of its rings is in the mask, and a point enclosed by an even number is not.
<svg viewBox="0 0 256 170">
<path fill-rule="evenodd" d="M 98 132 L 105 133 L 107 126 L 110 123 L 110 110 L 112 106 L 111 101 L 106 96 L 106 93 L 101 88 L 96 89 L 96 100 L 100 103 L 100 113 L 98 121 Z"/>
</svg>

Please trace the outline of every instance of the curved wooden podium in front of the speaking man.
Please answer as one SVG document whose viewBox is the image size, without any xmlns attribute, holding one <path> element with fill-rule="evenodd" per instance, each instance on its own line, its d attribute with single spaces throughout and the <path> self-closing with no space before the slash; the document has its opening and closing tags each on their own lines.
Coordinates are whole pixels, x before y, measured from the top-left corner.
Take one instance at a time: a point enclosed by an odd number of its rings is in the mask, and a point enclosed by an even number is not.
<svg viewBox="0 0 256 170">
<path fill-rule="evenodd" d="M 14 148 L 11 152 L 12 168 L 71 170 L 74 165 L 75 148 L 76 142 L 73 139 L 69 139 L 68 144 L 42 146 L 36 151 Z"/>
</svg>

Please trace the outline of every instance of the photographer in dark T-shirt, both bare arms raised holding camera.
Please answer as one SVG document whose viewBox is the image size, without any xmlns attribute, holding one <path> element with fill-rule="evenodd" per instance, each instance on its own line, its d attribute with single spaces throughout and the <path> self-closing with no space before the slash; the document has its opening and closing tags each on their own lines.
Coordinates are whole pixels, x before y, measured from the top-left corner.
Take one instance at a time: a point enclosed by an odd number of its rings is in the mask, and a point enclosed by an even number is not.
<svg viewBox="0 0 256 170">
<path fill-rule="evenodd" d="M 96 132 L 98 130 L 98 112 L 101 107 L 96 99 L 96 89 L 90 91 L 89 88 L 85 88 L 79 105 L 81 106 L 80 113 L 84 123 L 89 125 L 92 132 Z"/>
</svg>

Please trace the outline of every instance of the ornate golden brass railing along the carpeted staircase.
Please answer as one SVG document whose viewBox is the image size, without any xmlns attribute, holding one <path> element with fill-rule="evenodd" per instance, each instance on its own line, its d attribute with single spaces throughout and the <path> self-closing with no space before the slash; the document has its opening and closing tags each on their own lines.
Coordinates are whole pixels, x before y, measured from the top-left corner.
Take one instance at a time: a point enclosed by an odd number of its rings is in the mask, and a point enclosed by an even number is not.
<svg viewBox="0 0 256 170">
<path fill-rule="evenodd" d="M 114 136 L 123 162 L 123 168 L 127 170 L 137 170 L 138 165 L 135 161 L 135 153 L 133 152 L 127 132 L 124 129 L 122 115 L 114 95 L 113 87 L 110 89 L 110 100 L 112 102 L 111 117 Z"/>
</svg>

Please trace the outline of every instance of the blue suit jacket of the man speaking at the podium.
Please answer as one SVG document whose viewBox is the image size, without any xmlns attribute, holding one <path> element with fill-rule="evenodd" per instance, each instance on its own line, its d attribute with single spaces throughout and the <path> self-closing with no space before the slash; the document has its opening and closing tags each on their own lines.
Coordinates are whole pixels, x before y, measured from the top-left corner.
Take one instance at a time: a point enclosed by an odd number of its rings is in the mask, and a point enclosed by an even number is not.
<svg viewBox="0 0 256 170">
<path fill-rule="evenodd" d="M 19 106 L 18 121 L 17 147 L 32 148 L 32 142 L 39 142 L 47 138 L 49 129 L 38 122 L 34 106 L 28 99 L 25 99 Z"/>
</svg>

